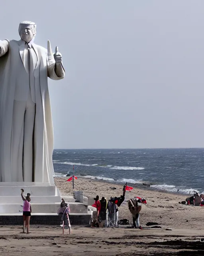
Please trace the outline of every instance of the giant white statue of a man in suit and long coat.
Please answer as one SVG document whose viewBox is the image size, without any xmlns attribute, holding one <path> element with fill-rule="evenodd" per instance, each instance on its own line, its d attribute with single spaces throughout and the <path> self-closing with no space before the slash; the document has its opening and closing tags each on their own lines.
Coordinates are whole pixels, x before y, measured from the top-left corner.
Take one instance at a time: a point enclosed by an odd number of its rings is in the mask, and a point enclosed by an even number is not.
<svg viewBox="0 0 204 256">
<path fill-rule="evenodd" d="M 53 183 L 53 123 L 47 77 L 65 77 L 62 56 L 34 44 L 36 25 L 19 25 L 21 40 L 0 40 L 0 182 Z"/>
</svg>

